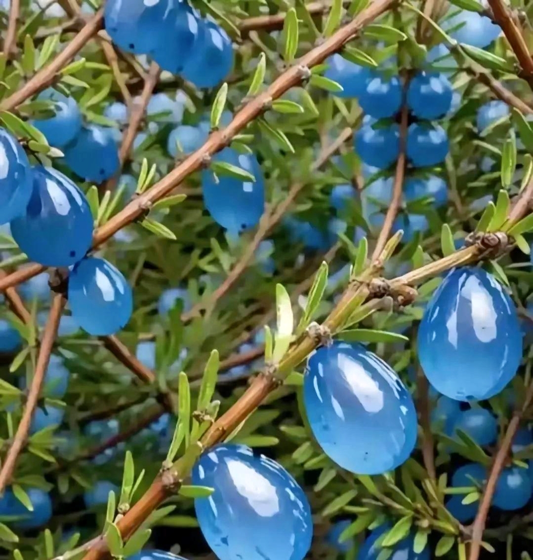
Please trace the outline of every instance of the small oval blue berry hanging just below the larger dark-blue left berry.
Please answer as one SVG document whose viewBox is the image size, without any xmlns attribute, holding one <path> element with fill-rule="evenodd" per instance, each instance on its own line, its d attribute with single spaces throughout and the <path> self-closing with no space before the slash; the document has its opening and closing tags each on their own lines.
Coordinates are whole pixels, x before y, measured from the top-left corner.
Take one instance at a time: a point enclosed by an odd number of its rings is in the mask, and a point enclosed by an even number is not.
<svg viewBox="0 0 533 560">
<path fill-rule="evenodd" d="M 68 280 L 68 303 L 76 323 L 92 335 L 123 329 L 133 309 L 126 278 L 104 259 L 81 260 Z"/>
</svg>

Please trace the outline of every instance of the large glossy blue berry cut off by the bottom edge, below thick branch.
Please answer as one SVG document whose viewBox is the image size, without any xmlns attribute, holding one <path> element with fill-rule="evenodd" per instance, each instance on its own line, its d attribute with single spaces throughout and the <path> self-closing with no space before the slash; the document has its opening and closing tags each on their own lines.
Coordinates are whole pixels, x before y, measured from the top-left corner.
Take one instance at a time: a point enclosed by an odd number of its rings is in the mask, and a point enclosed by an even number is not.
<svg viewBox="0 0 533 560">
<path fill-rule="evenodd" d="M 307 554 L 313 534 L 307 497 L 272 459 L 245 445 L 217 445 L 194 465 L 192 483 L 215 489 L 195 498 L 194 508 L 220 560 L 302 560 Z"/>
</svg>

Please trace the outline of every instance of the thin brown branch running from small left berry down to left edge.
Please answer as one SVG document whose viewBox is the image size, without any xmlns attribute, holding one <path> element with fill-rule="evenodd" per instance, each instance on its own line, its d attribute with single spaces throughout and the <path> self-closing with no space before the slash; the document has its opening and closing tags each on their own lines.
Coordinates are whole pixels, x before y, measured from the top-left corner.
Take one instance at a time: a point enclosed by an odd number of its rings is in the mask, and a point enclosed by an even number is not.
<svg viewBox="0 0 533 560">
<path fill-rule="evenodd" d="M 6 488 L 6 485 L 10 482 L 13 471 L 15 470 L 18 455 L 26 443 L 26 438 L 30 430 L 31 418 L 33 417 L 35 407 L 39 400 L 41 386 L 43 385 L 44 375 L 47 371 L 50 353 L 52 353 L 55 335 L 57 334 L 59 320 L 61 319 L 61 313 L 65 304 L 66 300 L 61 294 L 54 295 L 48 321 L 44 328 L 43 340 L 37 358 L 37 365 L 35 366 L 35 373 L 31 380 L 26 407 L 24 413 L 22 413 L 22 418 L 20 424 L 18 424 L 17 432 L 13 438 L 11 447 L 7 452 L 6 460 L 2 465 L 2 470 L 0 471 L 0 493 L 4 491 L 4 488 Z"/>
</svg>

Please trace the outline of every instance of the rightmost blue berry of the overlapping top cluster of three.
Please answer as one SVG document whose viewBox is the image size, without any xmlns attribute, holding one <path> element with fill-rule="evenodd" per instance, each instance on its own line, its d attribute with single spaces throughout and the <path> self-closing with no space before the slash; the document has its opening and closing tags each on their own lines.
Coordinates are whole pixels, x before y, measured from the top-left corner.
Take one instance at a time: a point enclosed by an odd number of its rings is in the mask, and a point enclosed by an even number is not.
<svg viewBox="0 0 533 560">
<path fill-rule="evenodd" d="M 233 46 L 214 21 L 200 20 L 198 34 L 182 76 L 196 87 L 215 87 L 233 67 Z"/>
</svg>

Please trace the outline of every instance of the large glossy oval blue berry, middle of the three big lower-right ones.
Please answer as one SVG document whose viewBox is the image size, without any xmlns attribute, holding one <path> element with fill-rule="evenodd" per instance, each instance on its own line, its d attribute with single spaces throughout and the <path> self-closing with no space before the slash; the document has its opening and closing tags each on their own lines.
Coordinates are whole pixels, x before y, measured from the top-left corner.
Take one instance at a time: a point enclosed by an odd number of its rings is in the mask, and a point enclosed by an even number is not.
<svg viewBox="0 0 533 560">
<path fill-rule="evenodd" d="M 311 354 L 304 405 L 318 444 L 350 472 L 393 470 L 415 446 L 411 394 L 390 366 L 361 344 L 334 342 Z"/>
</svg>

